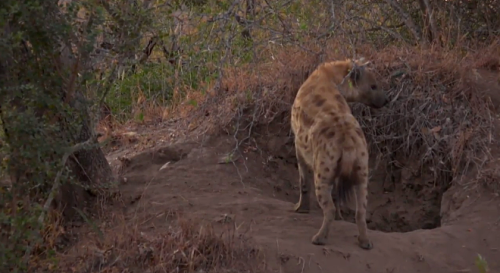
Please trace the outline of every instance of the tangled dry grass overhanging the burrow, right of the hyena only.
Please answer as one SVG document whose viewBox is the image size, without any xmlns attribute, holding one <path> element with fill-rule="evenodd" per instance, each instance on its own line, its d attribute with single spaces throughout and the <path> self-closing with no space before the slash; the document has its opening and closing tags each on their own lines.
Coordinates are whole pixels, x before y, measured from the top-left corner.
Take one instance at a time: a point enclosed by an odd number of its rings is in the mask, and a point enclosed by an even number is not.
<svg viewBox="0 0 500 273">
<path fill-rule="evenodd" d="M 389 79 L 393 100 L 384 111 L 353 107 L 375 154 L 393 168 L 430 173 L 444 188 L 471 168 L 481 169 L 491 159 L 493 114 L 477 69 L 498 63 L 494 51 L 495 45 L 468 56 L 439 48 L 367 52 Z M 405 166 L 411 161 L 416 163 Z"/>
</svg>

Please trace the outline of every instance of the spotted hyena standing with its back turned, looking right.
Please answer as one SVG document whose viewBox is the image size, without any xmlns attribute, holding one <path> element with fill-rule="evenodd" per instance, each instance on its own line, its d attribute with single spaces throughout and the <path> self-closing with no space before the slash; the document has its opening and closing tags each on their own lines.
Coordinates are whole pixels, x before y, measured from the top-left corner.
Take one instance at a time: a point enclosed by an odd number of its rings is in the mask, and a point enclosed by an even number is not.
<svg viewBox="0 0 500 273">
<path fill-rule="evenodd" d="M 366 227 L 368 148 L 347 102 L 381 108 L 388 98 L 366 64 L 349 59 L 321 64 L 302 84 L 293 103 L 291 126 L 300 184 L 300 199 L 294 210 L 309 212 L 314 177 L 316 197 L 323 210 L 323 224 L 312 238 L 315 245 L 324 245 L 334 217 L 342 218 L 339 202 L 354 196 L 359 245 L 373 248 Z"/>
</svg>

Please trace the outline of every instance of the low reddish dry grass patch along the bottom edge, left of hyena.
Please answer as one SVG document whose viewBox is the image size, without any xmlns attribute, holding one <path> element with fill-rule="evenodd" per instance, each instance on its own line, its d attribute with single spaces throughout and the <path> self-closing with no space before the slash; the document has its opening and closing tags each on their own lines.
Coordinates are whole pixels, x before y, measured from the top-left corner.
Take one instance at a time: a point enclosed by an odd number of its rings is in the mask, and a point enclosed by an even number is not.
<svg viewBox="0 0 500 273">
<path fill-rule="evenodd" d="M 166 230 L 145 230 L 137 219 L 114 218 L 101 235 L 75 230 L 77 245 L 35 263 L 30 272 L 266 272 L 263 254 L 234 227 L 219 233 L 177 215 Z"/>
</svg>

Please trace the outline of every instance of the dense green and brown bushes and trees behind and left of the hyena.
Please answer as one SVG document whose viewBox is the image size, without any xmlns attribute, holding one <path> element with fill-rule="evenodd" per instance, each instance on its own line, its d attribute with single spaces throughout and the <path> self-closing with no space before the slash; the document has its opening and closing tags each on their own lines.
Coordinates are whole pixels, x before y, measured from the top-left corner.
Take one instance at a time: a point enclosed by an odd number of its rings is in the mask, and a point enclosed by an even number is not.
<svg viewBox="0 0 500 273">
<path fill-rule="evenodd" d="M 383 67 L 395 49 L 397 57 L 411 60 L 423 50 L 423 59 L 445 63 L 440 77 L 417 75 L 414 86 L 463 88 L 455 85 L 461 72 L 454 62 L 498 65 L 470 56 L 498 52 L 499 7 L 495 0 L 3 0 L 0 271 L 25 272 L 52 259 L 60 221 L 87 218 L 97 199 L 116 192 L 95 131 L 106 112 L 118 125 L 191 121 L 190 110 L 234 97 L 232 107 L 213 110 L 213 122 L 226 125 L 257 104 L 253 116 L 269 118 L 266 109 L 277 115 L 276 101 L 293 97 L 297 83 L 290 82 L 303 77 L 296 73 L 332 56 L 369 52 Z M 426 64 L 407 63 L 419 65 Z M 454 99 L 482 109 L 464 94 Z M 483 115 L 474 112 L 474 122 Z M 484 133 L 478 129 L 478 138 Z M 477 151 L 482 142 L 470 143 Z M 448 156 L 445 148 L 433 154 L 436 162 Z M 457 149 L 454 161 L 443 163 L 449 170 L 461 169 L 467 149 Z"/>
</svg>

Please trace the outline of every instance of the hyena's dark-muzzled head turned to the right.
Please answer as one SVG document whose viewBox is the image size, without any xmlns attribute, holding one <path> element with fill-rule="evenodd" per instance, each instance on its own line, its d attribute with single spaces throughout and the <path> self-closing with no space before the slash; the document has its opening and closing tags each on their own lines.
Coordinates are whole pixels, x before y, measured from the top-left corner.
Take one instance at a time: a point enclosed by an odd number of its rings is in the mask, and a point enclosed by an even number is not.
<svg viewBox="0 0 500 273">
<path fill-rule="evenodd" d="M 356 94 L 355 101 L 373 108 L 382 108 L 388 102 L 386 92 L 381 88 L 374 72 L 370 71 L 363 58 L 351 62 L 349 79 L 352 83 L 352 91 Z"/>
</svg>

